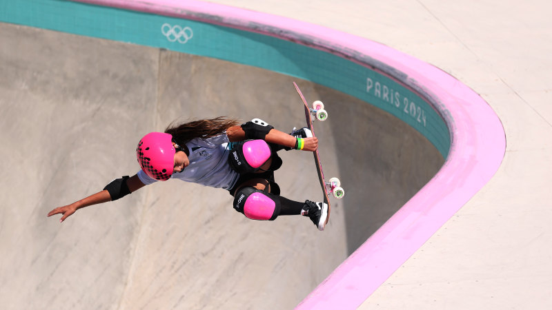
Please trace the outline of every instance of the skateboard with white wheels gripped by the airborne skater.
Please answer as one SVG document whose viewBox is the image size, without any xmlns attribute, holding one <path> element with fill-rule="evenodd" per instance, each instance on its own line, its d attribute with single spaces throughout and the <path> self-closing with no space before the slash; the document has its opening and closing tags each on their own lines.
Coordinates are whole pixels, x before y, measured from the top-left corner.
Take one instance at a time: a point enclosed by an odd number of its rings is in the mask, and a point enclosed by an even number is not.
<svg viewBox="0 0 552 310">
<path fill-rule="evenodd" d="M 293 86 L 295 86 L 295 90 L 297 90 L 297 94 L 299 94 L 299 97 L 301 97 L 301 100 L 304 103 L 305 107 L 305 121 L 306 125 L 309 130 L 313 133 L 313 136 L 315 136 L 315 130 L 313 127 L 314 119 L 313 116 L 315 116 L 315 119 L 318 121 L 326 121 L 328 118 L 328 112 L 324 110 L 324 103 L 322 101 L 315 101 L 313 102 L 313 107 L 308 107 L 308 104 L 306 103 L 305 96 L 303 96 L 303 93 L 301 90 L 299 90 L 299 86 L 297 86 L 297 83 L 293 82 Z M 328 201 L 328 194 L 333 194 L 333 196 L 337 199 L 341 199 L 345 195 L 344 189 L 341 187 L 341 181 L 339 181 L 339 178 L 330 178 L 328 182 L 324 179 L 324 171 L 322 171 L 322 163 L 320 161 L 320 154 L 318 152 L 318 149 L 316 149 L 315 152 L 313 152 L 314 158 L 315 158 L 315 164 L 316 164 L 316 171 L 318 173 L 318 180 L 320 182 L 320 187 L 322 187 L 322 193 L 324 194 L 324 203 L 328 205 L 328 218 L 326 218 L 326 224 L 328 224 L 328 220 L 330 220 L 330 202 Z"/>
</svg>

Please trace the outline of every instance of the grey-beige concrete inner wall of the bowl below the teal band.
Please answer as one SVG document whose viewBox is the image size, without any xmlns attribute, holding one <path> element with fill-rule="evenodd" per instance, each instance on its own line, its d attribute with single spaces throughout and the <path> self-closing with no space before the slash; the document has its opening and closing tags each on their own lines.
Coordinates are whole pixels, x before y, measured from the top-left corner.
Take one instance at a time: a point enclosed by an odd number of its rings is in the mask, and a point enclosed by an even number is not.
<svg viewBox="0 0 552 310">
<path fill-rule="evenodd" d="M 319 232 L 247 220 L 221 189 L 172 180 L 115 203 L 50 209 L 135 174 L 135 145 L 175 118 L 304 123 L 293 78 L 126 43 L 0 24 L 0 302 L 6 309 L 291 309 L 440 168 L 419 133 L 306 81 L 327 176 L 347 191 Z M 283 152 L 282 195 L 319 200 L 312 156 Z"/>
</svg>

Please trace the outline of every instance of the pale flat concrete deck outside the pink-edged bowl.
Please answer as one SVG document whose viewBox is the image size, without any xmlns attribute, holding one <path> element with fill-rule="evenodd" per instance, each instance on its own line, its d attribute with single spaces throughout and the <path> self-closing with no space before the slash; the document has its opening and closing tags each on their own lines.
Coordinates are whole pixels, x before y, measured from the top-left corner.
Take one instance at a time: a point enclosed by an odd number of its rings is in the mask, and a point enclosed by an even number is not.
<svg viewBox="0 0 552 310">
<path fill-rule="evenodd" d="M 552 4 L 544 0 L 250 1 L 431 63 L 500 117 L 495 177 L 361 309 L 551 309 Z"/>
</svg>

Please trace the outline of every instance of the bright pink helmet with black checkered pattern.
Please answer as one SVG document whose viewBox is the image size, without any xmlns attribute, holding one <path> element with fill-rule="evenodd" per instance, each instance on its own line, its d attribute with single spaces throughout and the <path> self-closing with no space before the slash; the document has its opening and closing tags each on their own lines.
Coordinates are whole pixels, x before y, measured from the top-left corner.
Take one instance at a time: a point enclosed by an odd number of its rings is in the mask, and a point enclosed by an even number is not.
<svg viewBox="0 0 552 310">
<path fill-rule="evenodd" d="M 155 180 L 168 180 L 175 167 L 175 152 L 170 134 L 150 132 L 138 143 L 136 158 L 148 176 Z"/>
</svg>

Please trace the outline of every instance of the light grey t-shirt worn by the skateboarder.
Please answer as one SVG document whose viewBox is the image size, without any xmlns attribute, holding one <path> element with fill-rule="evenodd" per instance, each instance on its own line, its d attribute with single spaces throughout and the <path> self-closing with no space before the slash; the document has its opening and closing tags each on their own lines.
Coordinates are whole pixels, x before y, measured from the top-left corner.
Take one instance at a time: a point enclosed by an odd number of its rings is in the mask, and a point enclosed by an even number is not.
<svg viewBox="0 0 552 310">
<path fill-rule="evenodd" d="M 230 189 L 239 174 L 228 165 L 228 136 L 226 133 L 211 138 L 195 138 L 186 143 L 190 151 L 190 165 L 182 172 L 175 172 L 170 178 L 178 178 L 186 182 L 197 183 L 209 187 Z M 143 170 L 138 172 L 138 178 L 145 185 L 157 182 Z"/>
</svg>

